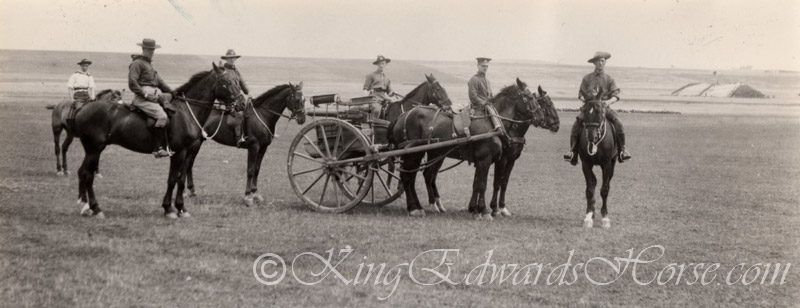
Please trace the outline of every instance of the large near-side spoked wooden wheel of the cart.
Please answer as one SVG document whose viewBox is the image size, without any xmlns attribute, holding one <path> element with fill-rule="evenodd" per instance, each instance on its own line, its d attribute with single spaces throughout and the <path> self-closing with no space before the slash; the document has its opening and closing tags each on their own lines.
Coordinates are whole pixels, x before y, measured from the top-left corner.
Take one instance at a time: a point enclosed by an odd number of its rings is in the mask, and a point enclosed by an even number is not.
<svg viewBox="0 0 800 308">
<path fill-rule="evenodd" d="M 371 153 L 369 141 L 350 123 L 321 119 L 303 127 L 289 148 L 287 171 L 292 189 L 315 211 L 341 213 L 364 199 L 372 183 L 372 162 L 331 165 Z M 347 180 L 350 179 L 350 180 Z"/>
</svg>

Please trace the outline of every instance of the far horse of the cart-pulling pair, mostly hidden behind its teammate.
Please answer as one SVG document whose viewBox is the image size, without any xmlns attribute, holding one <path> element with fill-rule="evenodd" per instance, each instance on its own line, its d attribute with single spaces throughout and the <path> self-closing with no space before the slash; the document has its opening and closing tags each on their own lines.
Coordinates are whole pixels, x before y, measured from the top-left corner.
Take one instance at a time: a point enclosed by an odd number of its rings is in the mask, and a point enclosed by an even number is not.
<svg viewBox="0 0 800 308">
<path fill-rule="evenodd" d="M 538 94 L 534 96 L 538 107 L 535 108 L 533 121 L 530 124 L 557 133 L 560 126 L 558 111 L 556 111 L 556 107 L 547 92 L 542 90 L 542 86 L 539 86 L 537 90 Z M 503 126 L 507 128 L 509 141 L 503 146 L 503 155 L 500 156 L 500 160 L 494 164 L 494 185 L 492 201 L 489 206 L 492 208 L 492 216 L 502 215 L 508 217 L 511 216 L 511 212 L 506 208 L 506 188 L 508 188 L 511 170 L 514 169 L 514 164 L 522 155 L 522 150 L 525 147 L 525 134 L 528 132 L 530 125 L 511 122 L 506 119 L 503 119 L 502 122 Z"/>
</svg>

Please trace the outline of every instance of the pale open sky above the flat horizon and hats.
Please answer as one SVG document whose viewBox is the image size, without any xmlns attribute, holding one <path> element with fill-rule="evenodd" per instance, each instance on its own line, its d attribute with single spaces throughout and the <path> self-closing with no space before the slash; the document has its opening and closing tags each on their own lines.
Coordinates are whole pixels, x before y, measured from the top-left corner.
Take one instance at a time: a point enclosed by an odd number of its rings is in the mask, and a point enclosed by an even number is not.
<svg viewBox="0 0 800 308">
<path fill-rule="evenodd" d="M 0 48 L 800 70 L 800 0 L 0 0 Z"/>
</svg>

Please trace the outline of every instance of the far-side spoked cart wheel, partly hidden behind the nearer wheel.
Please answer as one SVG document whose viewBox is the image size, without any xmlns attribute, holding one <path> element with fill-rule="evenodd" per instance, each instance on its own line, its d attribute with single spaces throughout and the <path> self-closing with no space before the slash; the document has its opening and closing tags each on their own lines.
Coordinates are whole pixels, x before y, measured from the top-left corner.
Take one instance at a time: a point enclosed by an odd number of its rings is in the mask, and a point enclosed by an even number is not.
<svg viewBox="0 0 800 308">
<path fill-rule="evenodd" d="M 363 166 L 358 166 L 363 168 Z M 361 200 L 361 204 L 370 206 L 384 206 L 394 202 L 397 198 L 403 195 L 403 187 L 400 185 L 400 171 L 398 170 L 398 163 L 394 157 L 386 158 L 369 165 L 369 168 L 375 173 L 370 185 L 369 192 Z M 363 172 L 362 170 L 353 170 L 354 173 Z M 358 186 L 364 184 L 364 181 L 355 176 L 345 176 L 346 182 L 358 182 Z M 342 190 L 347 194 L 348 198 L 354 198 L 355 193 L 350 191 L 348 187 L 355 184 L 343 185 Z"/>
</svg>

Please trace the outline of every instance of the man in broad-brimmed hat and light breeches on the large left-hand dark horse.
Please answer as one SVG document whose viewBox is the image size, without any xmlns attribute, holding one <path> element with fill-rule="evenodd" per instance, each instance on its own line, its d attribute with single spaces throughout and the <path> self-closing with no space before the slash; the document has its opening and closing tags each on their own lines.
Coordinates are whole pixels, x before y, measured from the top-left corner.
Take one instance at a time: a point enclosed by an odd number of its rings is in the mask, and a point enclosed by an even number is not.
<svg viewBox="0 0 800 308">
<path fill-rule="evenodd" d="M 156 148 L 153 155 L 156 158 L 169 157 L 172 153 L 167 150 L 167 124 L 169 118 L 164 108 L 158 104 L 162 93 L 171 93 L 172 89 L 164 83 L 161 76 L 153 68 L 153 55 L 157 48 L 161 48 L 153 39 L 143 39 L 136 43 L 142 47 L 141 55 L 131 55 L 133 62 L 128 66 L 128 88 L 136 95 L 132 105 L 136 106 L 147 116 L 156 120 L 153 136 L 156 139 Z M 167 99 L 169 101 L 171 99 Z"/>
</svg>

